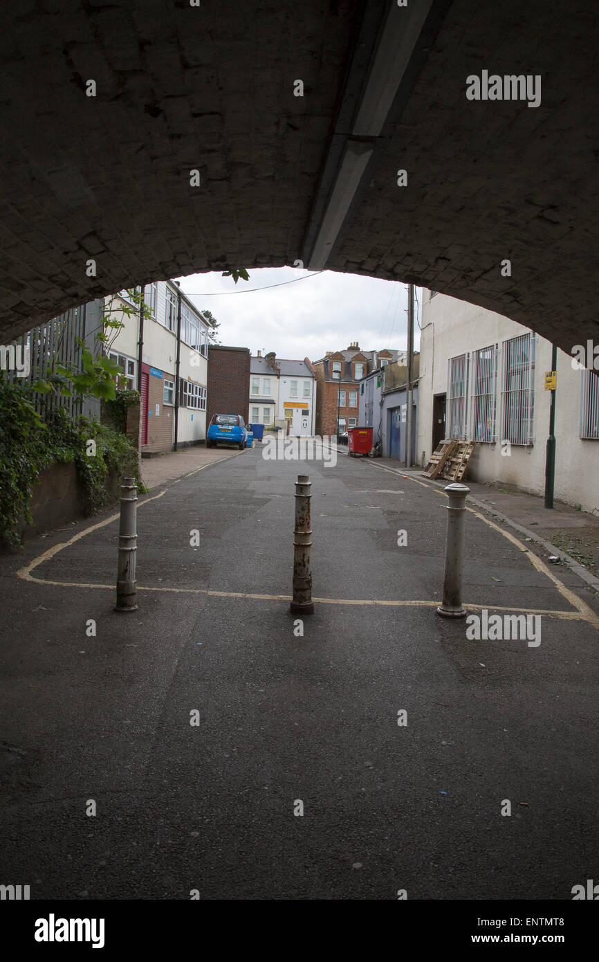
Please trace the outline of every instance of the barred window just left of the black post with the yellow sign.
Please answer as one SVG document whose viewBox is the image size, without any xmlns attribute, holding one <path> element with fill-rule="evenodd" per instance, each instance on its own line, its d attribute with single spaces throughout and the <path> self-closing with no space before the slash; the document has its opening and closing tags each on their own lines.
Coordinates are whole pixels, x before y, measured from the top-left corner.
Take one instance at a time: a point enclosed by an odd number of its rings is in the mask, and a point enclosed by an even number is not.
<svg viewBox="0 0 599 962">
<path fill-rule="evenodd" d="M 531 444 L 535 440 L 535 344 L 533 334 L 503 342 L 502 442 Z"/>
</svg>

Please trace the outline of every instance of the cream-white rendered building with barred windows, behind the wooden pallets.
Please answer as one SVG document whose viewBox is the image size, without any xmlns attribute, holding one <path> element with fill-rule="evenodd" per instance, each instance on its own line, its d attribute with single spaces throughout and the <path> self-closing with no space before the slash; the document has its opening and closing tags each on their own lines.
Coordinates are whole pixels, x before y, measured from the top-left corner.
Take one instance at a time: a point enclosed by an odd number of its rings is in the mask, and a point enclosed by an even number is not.
<svg viewBox="0 0 599 962">
<path fill-rule="evenodd" d="M 419 456 L 426 462 L 443 438 L 474 441 L 473 480 L 543 494 L 551 343 L 456 298 L 425 292 L 423 299 Z M 555 497 L 596 514 L 599 375 L 557 353 Z"/>
</svg>

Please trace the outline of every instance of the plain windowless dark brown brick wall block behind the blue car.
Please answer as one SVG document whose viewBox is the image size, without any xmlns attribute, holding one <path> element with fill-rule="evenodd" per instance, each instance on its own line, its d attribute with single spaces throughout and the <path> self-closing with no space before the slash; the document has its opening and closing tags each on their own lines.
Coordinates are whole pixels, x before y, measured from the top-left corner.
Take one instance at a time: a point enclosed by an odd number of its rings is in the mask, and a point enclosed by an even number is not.
<svg viewBox="0 0 599 962">
<path fill-rule="evenodd" d="M 241 415 L 245 420 L 249 393 L 249 347 L 210 344 L 206 423 L 210 424 L 212 415 Z"/>
</svg>

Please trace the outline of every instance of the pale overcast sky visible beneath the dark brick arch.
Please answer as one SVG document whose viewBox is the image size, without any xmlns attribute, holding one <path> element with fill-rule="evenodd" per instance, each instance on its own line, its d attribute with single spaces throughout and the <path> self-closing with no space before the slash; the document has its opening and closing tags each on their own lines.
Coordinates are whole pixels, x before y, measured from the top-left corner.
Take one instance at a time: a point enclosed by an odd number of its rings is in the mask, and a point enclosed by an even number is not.
<svg viewBox="0 0 599 962">
<path fill-rule="evenodd" d="M 222 344 L 249 347 L 254 355 L 275 351 L 280 358 L 311 361 L 354 341 L 364 350 L 407 347 L 408 293 L 403 283 L 331 270 L 311 276 L 294 267 L 252 268 L 248 273 L 249 281 L 238 280 L 237 285 L 214 272 L 178 278 L 192 303 L 220 321 Z M 415 316 L 421 319 L 419 288 L 416 293 L 420 308 L 416 306 Z M 416 350 L 419 342 L 414 321 Z"/>
</svg>

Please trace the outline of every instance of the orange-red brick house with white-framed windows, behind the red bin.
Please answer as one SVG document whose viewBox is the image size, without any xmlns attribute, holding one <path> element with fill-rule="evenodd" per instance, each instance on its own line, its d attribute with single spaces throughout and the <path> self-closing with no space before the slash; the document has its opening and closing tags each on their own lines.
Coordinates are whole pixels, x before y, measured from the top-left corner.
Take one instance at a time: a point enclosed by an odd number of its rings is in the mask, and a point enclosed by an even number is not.
<svg viewBox="0 0 599 962">
<path fill-rule="evenodd" d="M 344 351 L 327 351 L 314 361 L 317 435 L 336 435 L 358 426 L 360 381 L 377 367 L 397 360 L 399 351 L 362 351 L 358 342 Z M 338 411 L 338 425 L 337 425 Z"/>
</svg>

